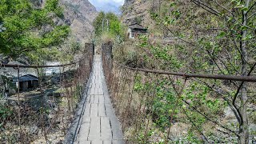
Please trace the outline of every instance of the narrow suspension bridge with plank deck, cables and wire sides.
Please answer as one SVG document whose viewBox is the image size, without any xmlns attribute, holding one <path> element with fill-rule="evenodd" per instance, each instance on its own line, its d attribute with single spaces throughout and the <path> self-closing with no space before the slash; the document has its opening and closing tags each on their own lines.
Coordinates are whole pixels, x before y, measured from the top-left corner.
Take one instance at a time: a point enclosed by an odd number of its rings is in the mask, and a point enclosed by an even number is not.
<svg viewBox="0 0 256 144">
<path fill-rule="evenodd" d="M 44 89 L 46 84 L 42 82 L 42 77 L 38 73 L 39 86 L 42 99 L 41 106 L 38 111 L 38 117 L 30 117 L 31 113 L 26 104 L 19 98 L 18 91 L 18 110 L 10 113 L 7 118 L 2 118 L 3 123 L 13 123 L 17 126 L 15 130 L 9 130 L 8 127 L 0 134 L 2 143 L 8 142 L 33 142 L 42 136 L 41 143 L 50 143 L 53 139 L 54 130 L 58 127 L 65 134 L 65 140 L 62 143 L 79 143 L 79 144 L 122 144 L 122 143 L 150 143 L 172 141 L 170 137 L 171 126 L 174 124 L 174 112 L 179 106 L 178 102 L 182 102 L 190 110 L 202 115 L 214 125 L 219 126 L 226 133 L 229 132 L 239 136 L 238 131 L 225 126 L 216 119 L 209 118 L 203 114 L 198 107 L 193 106 L 186 99 L 182 99 L 182 94 L 186 89 L 191 78 L 194 81 L 200 81 L 198 78 L 214 79 L 214 80 L 232 80 L 238 87 L 244 82 L 256 82 L 254 76 L 232 76 L 232 75 L 213 75 L 213 74 L 186 74 L 176 72 L 165 72 L 158 70 L 139 69 L 130 66 L 122 66 L 118 62 L 114 62 L 111 44 L 102 44 L 102 54 L 94 55 L 94 45 L 86 44 L 86 51 L 82 56 L 82 60 L 72 62 L 70 64 L 58 66 L 18 66 L 1 64 L 2 68 L 13 67 L 18 70 L 31 68 L 39 71 L 46 67 L 60 67 L 60 86 L 59 90 L 65 93 L 61 94 L 61 98 L 56 100 L 55 97 L 46 97 Z M 74 77 L 68 78 L 65 71 L 74 69 Z M 254 70 L 251 67 L 250 73 Z M 179 78 L 179 80 L 178 80 Z M 166 82 L 161 84 L 159 79 Z M 137 86 L 141 82 L 142 86 Z M 211 86 L 204 82 L 206 86 Z M 212 87 L 213 90 L 217 89 Z M 18 89 L 19 90 L 19 89 Z M 137 91 L 135 91 L 137 90 Z M 159 90 L 170 92 L 173 90 L 176 97 L 172 101 L 174 107 L 164 126 L 166 130 L 155 134 L 150 134 L 150 129 L 154 127 L 154 122 L 158 120 L 157 113 L 154 110 L 154 102 Z M 215 91 L 222 94 L 218 90 Z M 227 100 L 234 110 L 234 114 L 238 118 L 242 118 L 240 110 L 238 110 L 237 94 L 233 99 Z M 225 99 L 225 97 L 224 97 Z M 61 101 L 61 102 L 59 102 Z M 233 101 L 233 105 L 232 105 Z M 61 103 L 58 106 L 51 107 L 49 103 Z M 161 100 L 162 105 L 168 104 L 167 100 Z M 30 108 L 32 109 L 32 108 Z M 56 110 L 55 110 L 56 109 Z M 190 115 L 186 110 L 182 111 L 188 121 L 193 123 Z M 51 117 L 49 117 L 51 115 Z M 68 115 L 68 116 L 66 116 Z M 10 119 L 13 118 L 11 121 Z M 29 124 L 27 122 L 30 122 Z M 29 127 L 40 128 L 41 131 L 34 130 L 31 132 Z M 197 126 L 195 126 L 197 127 Z M 127 132 L 128 131 L 128 132 Z M 203 141 L 210 142 L 202 131 L 199 134 Z M 123 134 L 126 132 L 126 135 Z M 17 138 L 10 138 L 10 134 L 18 134 Z M 56 136 L 60 137 L 60 136 Z M 63 135 L 62 135 L 63 137 Z M 40 137 L 39 137 L 40 138 Z M 38 143 L 38 142 L 34 142 Z"/>
</svg>

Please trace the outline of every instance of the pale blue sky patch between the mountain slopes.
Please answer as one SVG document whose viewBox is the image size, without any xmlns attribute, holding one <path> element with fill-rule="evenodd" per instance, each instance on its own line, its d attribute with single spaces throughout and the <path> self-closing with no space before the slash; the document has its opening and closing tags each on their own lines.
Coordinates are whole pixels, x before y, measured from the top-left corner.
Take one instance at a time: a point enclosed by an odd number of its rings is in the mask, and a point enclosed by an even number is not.
<svg viewBox="0 0 256 144">
<path fill-rule="evenodd" d="M 124 0 L 89 0 L 98 11 L 114 12 L 119 14 L 119 7 L 123 5 Z"/>
</svg>

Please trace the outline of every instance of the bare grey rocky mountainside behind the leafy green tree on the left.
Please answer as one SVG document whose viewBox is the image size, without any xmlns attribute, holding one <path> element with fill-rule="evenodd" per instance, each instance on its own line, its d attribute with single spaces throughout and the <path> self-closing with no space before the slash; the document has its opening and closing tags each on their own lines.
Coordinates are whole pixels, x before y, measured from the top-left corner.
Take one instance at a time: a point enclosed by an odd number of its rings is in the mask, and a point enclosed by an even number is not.
<svg viewBox="0 0 256 144">
<path fill-rule="evenodd" d="M 41 8 L 45 6 L 46 0 L 30 0 L 33 3 L 34 7 Z M 98 15 L 96 8 L 88 0 L 59 0 L 59 5 L 63 8 L 63 18 L 58 18 L 54 14 L 49 16 L 53 18 L 53 21 L 56 25 L 69 25 L 71 34 L 67 38 L 66 43 L 70 41 L 73 42 L 91 42 L 92 35 L 94 34 L 94 26 L 92 22 L 94 18 Z M 38 31 L 43 33 L 47 30 L 50 30 L 51 26 L 43 26 L 42 30 Z M 29 64 L 26 58 L 19 59 L 19 62 L 24 64 Z M 8 63 L 10 62 L 9 58 L 5 58 L 0 54 L 0 62 Z"/>
</svg>

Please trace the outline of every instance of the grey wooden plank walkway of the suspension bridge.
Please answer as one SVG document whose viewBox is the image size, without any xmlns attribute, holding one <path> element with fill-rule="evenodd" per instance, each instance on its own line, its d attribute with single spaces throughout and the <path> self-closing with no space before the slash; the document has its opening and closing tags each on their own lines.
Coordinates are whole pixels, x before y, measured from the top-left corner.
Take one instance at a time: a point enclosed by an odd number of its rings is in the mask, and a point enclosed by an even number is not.
<svg viewBox="0 0 256 144">
<path fill-rule="evenodd" d="M 123 135 L 118 118 L 114 114 L 100 55 L 94 56 L 94 70 L 87 92 L 86 108 L 75 143 L 123 144 Z"/>
</svg>

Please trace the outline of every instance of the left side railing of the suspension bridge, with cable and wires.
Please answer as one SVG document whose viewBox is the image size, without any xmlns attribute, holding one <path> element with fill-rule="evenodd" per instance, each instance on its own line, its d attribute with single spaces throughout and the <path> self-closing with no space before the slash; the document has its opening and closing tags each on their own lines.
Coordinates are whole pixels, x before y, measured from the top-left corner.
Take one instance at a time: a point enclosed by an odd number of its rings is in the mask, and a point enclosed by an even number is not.
<svg viewBox="0 0 256 144">
<path fill-rule="evenodd" d="M 0 64 L 2 70 L 17 70 L 18 77 L 17 91 L 0 99 L 0 143 L 64 142 L 65 135 L 70 133 L 71 123 L 79 117 L 74 112 L 86 96 L 84 91 L 93 58 L 94 45 L 86 44 L 78 62 L 56 66 Z M 42 74 L 43 68 L 51 67 L 58 68 L 59 73 Z M 35 84 L 34 90 L 22 90 L 22 87 L 32 85 L 21 82 L 20 74 L 24 70 L 38 75 L 38 86 Z M 6 80 L 4 85 L 11 84 Z M 12 89 L 16 90 L 15 87 Z"/>
</svg>

